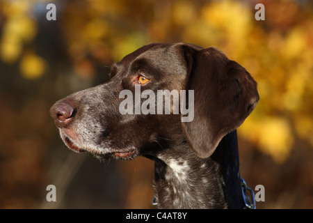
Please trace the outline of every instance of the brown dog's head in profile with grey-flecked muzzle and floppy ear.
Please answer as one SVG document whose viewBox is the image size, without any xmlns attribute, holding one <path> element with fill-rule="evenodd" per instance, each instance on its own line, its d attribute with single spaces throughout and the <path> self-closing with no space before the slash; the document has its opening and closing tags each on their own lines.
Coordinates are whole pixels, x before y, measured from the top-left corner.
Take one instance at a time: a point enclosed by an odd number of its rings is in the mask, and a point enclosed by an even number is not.
<svg viewBox="0 0 313 223">
<path fill-rule="evenodd" d="M 218 49 L 151 44 L 115 63 L 109 82 L 59 100 L 50 113 L 77 152 L 131 159 L 187 141 L 209 157 L 258 100 L 250 74 Z"/>
</svg>

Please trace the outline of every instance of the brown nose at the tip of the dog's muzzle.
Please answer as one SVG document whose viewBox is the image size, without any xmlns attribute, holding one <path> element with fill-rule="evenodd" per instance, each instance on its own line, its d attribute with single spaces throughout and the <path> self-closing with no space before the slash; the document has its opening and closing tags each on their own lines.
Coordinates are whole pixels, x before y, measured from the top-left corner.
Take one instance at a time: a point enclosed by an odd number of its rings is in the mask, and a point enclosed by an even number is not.
<svg viewBox="0 0 313 223">
<path fill-rule="evenodd" d="M 56 102 L 50 109 L 51 117 L 54 118 L 54 123 L 58 128 L 65 128 L 69 125 L 76 112 L 75 107 L 65 101 Z"/>
</svg>

